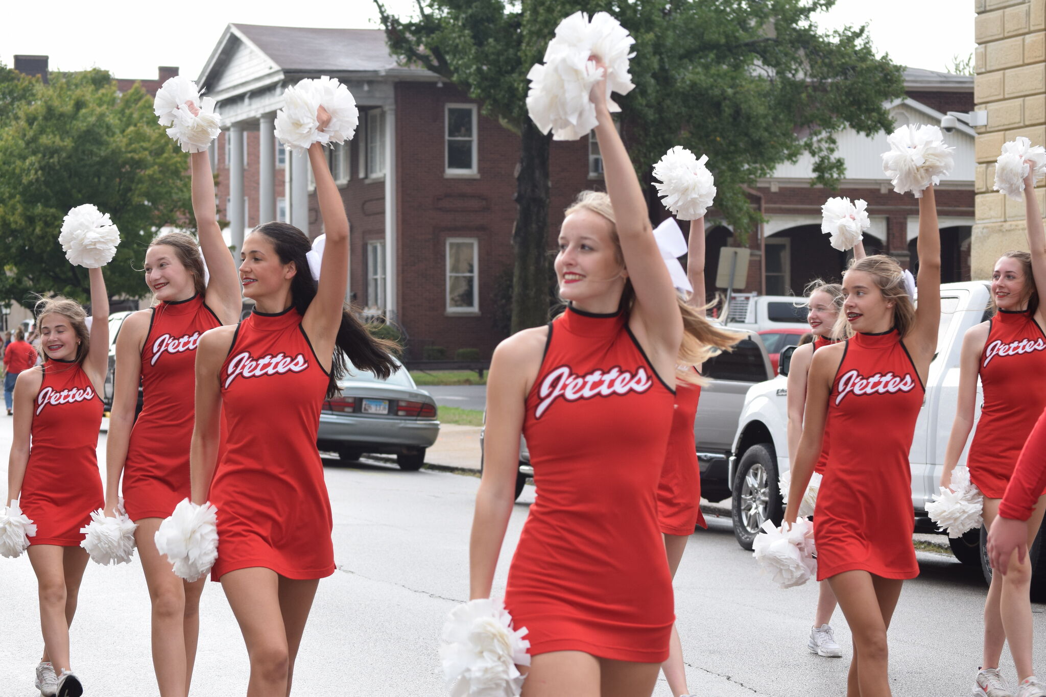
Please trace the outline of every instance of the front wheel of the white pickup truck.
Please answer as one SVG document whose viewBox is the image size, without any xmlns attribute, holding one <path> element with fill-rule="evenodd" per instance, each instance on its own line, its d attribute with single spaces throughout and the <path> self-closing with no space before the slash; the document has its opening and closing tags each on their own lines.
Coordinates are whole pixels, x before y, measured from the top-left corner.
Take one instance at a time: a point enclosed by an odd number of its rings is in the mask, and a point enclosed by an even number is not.
<svg viewBox="0 0 1046 697">
<path fill-rule="evenodd" d="M 780 525 L 784 510 L 777 493 L 777 460 L 770 443 L 745 450 L 733 477 L 730 513 L 733 536 L 745 550 L 752 549 L 764 521 Z"/>
</svg>

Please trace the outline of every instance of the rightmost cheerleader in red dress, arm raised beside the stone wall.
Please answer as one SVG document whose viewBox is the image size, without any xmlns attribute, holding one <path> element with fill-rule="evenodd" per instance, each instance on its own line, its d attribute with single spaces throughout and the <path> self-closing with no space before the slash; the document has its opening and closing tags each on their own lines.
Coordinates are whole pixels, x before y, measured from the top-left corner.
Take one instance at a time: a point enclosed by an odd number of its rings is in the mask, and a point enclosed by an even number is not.
<svg viewBox="0 0 1046 697">
<path fill-rule="evenodd" d="M 992 302 L 996 313 L 987 322 L 967 330 L 962 340 L 958 408 L 945 455 L 941 486 L 950 486 L 970 432 L 974 427 L 977 379 L 983 386 L 984 402 L 973 443 L 967 456 L 970 479 L 984 494 L 984 526 L 988 531 L 999 514 L 1014 466 L 1046 409 L 1046 334 L 1040 298 L 1046 292 L 1046 234 L 1032 192 L 1031 175 L 1025 180 L 1029 249 L 1006 252 L 992 273 Z M 1041 489 L 1037 495 L 1046 493 Z M 1043 519 L 1044 507 L 1030 516 L 1028 544 Z M 1009 690 L 999 674 L 1003 645 L 1009 644 L 1021 697 L 1043 697 L 1031 668 L 1031 567 L 1027 560 L 1009 559 L 1006 573 L 992 577 L 984 601 L 984 651 L 974 694 L 1005 697 Z M 1025 687 L 1029 682 L 1031 687 Z"/>
</svg>

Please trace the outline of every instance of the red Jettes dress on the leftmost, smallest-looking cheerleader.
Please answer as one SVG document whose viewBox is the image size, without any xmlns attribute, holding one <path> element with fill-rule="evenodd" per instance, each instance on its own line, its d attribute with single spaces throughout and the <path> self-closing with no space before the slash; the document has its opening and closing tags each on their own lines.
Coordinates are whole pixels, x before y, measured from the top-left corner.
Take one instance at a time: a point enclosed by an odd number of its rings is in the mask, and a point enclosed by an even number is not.
<svg viewBox="0 0 1046 697">
<path fill-rule="evenodd" d="M 78 547 L 91 511 L 106 505 L 98 472 L 105 406 L 75 362 L 48 359 L 33 402 L 21 507 L 37 524 L 30 544 Z"/>
</svg>

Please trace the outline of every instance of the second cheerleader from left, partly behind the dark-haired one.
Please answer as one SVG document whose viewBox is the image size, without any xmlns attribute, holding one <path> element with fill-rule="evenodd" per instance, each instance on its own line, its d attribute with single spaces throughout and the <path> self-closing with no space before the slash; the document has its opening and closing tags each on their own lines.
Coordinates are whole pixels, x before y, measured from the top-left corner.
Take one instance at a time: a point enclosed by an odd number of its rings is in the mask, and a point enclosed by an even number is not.
<svg viewBox="0 0 1046 697">
<path fill-rule="evenodd" d="M 203 332 L 240 318 L 236 268 L 214 210 L 206 152 L 189 155 L 197 238 L 174 232 L 145 251 L 145 284 L 158 301 L 130 315 L 116 336 L 113 409 L 106 444 L 106 510 L 123 505 L 152 602 L 153 669 L 161 697 L 185 697 L 200 633 L 204 581 L 175 576 L 156 550 L 160 522 L 189 490 L 195 364 Z M 203 256 L 201 256 L 201 252 Z M 205 276 L 209 270 L 209 279 Z M 135 417 L 141 386 L 142 410 Z"/>
</svg>

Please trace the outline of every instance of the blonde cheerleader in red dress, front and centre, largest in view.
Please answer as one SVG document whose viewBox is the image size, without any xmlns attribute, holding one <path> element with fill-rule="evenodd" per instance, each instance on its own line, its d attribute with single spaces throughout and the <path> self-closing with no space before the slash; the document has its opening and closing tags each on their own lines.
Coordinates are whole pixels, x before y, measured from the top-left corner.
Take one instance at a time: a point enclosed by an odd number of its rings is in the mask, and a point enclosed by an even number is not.
<svg viewBox="0 0 1046 697">
<path fill-rule="evenodd" d="M 609 195 L 583 193 L 559 235 L 569 307 L 502 342 L 487 380 L 470 597 L 491 594 L 522 433 L 539 495 L 505 605 L 528 630 L 527 697 L 649 696 L 674 620 L 657 486 L 683 322 L 605 94 L 602 80 L 592 101 Z"/>
</svg>

